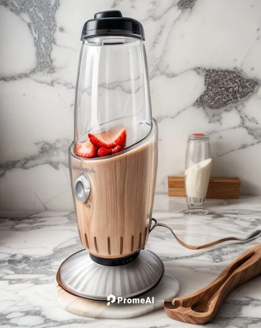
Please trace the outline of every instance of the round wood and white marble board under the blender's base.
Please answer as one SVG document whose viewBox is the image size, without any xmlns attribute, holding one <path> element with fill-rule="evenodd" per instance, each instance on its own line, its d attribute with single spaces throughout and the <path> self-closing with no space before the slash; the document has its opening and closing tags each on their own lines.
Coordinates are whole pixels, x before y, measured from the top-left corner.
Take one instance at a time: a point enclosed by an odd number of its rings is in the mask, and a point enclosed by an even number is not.
<svg viewBox="0 0 261 328">
<path fill-rule="evenodd" d="M 152 299 L 154 304 L 127 304 L 92 302 L 85 298 L 72 295 L 62 289 L 56 281 L 56 295 L 61 307 L 71 313 L 93 318 L 107 319 L 126 319 L 144 315 L 146 313 L 163 308 L 164 300 L 170 300 L 175 297 L 180 290 L 179 282 L 176 278 L 164 274 L 159 285 L 150 293 L 141 298 Z"/>
</svg>

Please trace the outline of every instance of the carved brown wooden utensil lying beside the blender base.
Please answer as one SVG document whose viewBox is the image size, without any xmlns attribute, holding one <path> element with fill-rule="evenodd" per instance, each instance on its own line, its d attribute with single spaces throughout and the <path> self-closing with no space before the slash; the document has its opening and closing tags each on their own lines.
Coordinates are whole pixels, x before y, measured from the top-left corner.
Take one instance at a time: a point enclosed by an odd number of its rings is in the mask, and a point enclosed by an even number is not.
<svg viewBox="0 0 261 328">
<path fill-rule="evenodd" d="M 238 256 L 208 286 L 193 294 L 164 302 L 166 314 L 175 320 L 205 324 L 213 319 L 228 294 L 261 274 L 261 244 Z"/>
</svg>

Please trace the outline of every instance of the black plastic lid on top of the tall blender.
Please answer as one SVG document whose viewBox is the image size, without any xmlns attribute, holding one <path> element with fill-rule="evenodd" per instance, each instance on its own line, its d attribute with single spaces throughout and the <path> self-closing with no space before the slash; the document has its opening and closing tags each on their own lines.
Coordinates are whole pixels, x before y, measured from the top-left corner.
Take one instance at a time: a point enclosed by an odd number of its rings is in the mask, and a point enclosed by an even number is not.
<svg viewBox="0 0 261 328">
<path fill-rule="evenodd" d="M 94 36 L 130 36 L 145 40 L 142 24 L 133 18 L 122 17 L 118 10 L 100 11 L 83 25 L 81 39 Z"/>
</svg>

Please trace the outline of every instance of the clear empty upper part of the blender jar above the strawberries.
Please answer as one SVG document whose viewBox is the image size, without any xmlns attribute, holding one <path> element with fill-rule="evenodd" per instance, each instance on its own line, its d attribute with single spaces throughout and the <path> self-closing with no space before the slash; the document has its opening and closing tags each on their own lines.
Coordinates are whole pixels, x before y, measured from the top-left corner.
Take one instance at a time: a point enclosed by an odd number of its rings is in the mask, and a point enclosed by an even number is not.
<svg viewBox="0 0 261 328">
<path fill-rule="evenodd" d="M 107 19 L 107 18 L 103 18 Z M 144 41 L 102 35 L 83 39 L 75 95 L 75 145 L 88 133 L 126 129 L 126 148 L 152 126 Z"/>
</svg>

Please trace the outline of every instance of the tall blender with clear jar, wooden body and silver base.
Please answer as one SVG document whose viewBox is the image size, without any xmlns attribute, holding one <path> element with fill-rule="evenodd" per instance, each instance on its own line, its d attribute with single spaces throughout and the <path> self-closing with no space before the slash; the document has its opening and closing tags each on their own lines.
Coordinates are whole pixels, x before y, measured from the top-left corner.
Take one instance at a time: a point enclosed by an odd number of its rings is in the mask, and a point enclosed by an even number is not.
<svg viewBox="0 0 261 328">
<path fill-rule="evenodd" d="M 83 250 L 60 266 L 66 291 L 94 301 L 153 290 L 161 259 L 144 250 L 153 210 L 158 127 L 151 117 L 144 30 L 120 11 L 82 29 L 69 166 Z"/>
</svg>

